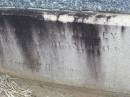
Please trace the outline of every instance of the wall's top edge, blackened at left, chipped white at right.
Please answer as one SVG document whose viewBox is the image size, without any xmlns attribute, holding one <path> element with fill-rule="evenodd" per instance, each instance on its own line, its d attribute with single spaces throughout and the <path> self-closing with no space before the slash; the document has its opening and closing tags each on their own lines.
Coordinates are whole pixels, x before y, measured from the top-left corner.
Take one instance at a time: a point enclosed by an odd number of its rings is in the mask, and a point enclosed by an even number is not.
<svg viewBox="0 0 130 97">
<path fill-rule="evenodd" d="M 129 14 L 103 12 L 49 11 L 35 9 L 0 9 L 1 15 L 30 16 L 40 20 L 59 21 L 63 23 L 77 22 L 87 24 L 130 26 Z"/>
</svg>

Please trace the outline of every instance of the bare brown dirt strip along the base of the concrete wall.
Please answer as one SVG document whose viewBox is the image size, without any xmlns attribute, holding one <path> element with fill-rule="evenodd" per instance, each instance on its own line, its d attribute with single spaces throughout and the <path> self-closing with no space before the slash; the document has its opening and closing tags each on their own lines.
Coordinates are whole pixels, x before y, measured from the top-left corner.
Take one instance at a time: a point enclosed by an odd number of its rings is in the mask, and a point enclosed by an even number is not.
<svg viewBox="0 0 130 97">
<path fill-rule="evenodd" d="M 70 87 L 22 78 L 15 78 L 14 80 L 20 87 L 31 89 L 32 97 L 130 97 L 130 94 Z M 6 96 L 0 94 L 0 97 Z"/>
</svg>

